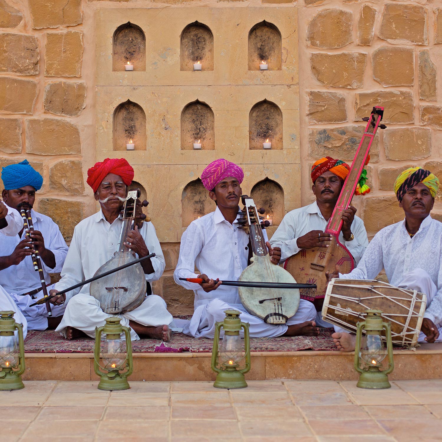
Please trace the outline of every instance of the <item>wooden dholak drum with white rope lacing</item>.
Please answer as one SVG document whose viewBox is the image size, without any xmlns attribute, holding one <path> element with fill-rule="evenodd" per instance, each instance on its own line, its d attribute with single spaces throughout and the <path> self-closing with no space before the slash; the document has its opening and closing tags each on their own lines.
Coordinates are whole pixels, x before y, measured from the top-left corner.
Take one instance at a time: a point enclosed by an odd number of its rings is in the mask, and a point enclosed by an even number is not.
<svg viewBox="0 0 442 442">
<path fill-rule="evenodd" d="M 375 280 L 333 278 L 325 293 L 322 318 L 356 331 L 366 310 L 382 311 L 391 323 L 392 341 L 396 345 L 414 347 L 417 344 L 427 295 L 415 290 L 400 289 Z"/>
</svg>

